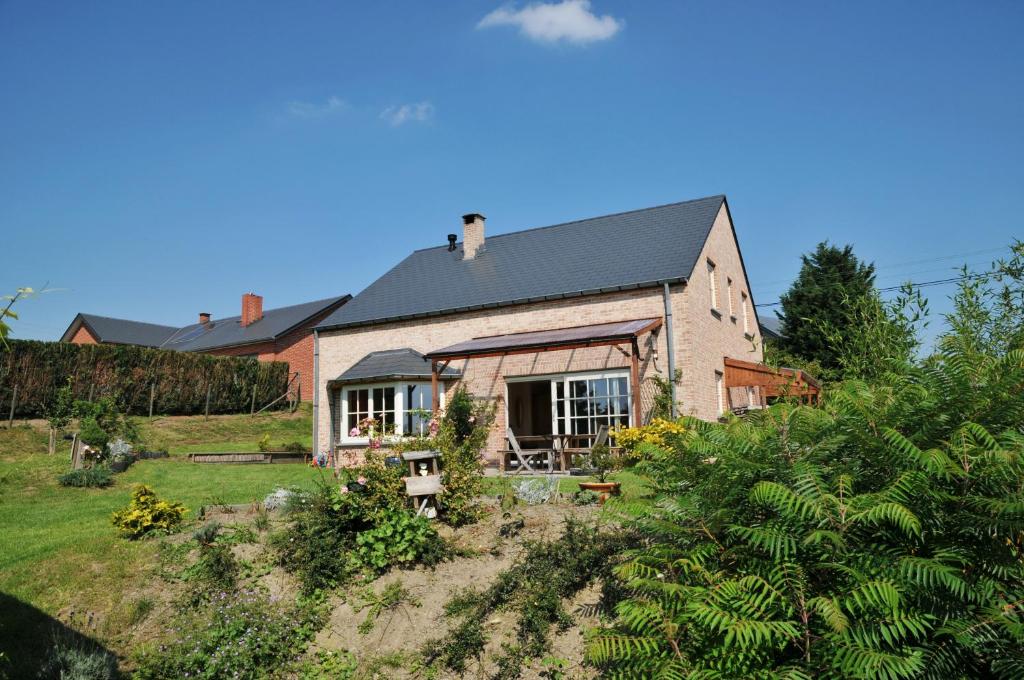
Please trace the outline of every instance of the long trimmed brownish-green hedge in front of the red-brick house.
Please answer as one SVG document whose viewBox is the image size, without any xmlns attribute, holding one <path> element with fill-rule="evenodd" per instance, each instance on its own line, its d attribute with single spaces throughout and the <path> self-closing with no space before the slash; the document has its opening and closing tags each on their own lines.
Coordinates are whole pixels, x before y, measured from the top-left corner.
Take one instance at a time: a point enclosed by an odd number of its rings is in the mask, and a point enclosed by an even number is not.
<svg viewBox="0 0 1024 680">
<path fill-rule="evenodd" d="M 17 387 L 14 415 L 45 417 L 56 390 L 71 378 L 75 397 L 113 396 L 133 415 L 202 414 L 210 388 L 210 413 L 248 412 L 256 387 L 256 408 L 281 396 L 288 386 L 288 364 L 213 356 L 131 345 L 74 345 L 66 342 L 8 340 L 0 346 L 0 413 L 7 417 Z M 287 403 L 282 399 L 282 403 Z"/>
</svg>

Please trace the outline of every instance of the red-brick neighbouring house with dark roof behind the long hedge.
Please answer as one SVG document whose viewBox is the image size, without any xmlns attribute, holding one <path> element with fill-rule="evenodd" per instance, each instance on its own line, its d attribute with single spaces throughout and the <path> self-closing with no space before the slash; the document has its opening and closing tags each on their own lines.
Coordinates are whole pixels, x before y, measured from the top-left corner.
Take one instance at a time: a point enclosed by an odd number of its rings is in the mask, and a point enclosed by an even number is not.
<svg viewBox="0 0 1024 680">
<path fill-rule="evenodd" d="M 246 293 L 242 296 L 242 313 L 238 316 L 214 320 L 204 311 L 200 312 L 197 323 L 181 328 L 79 313 L 60 340 L 286 362 L 293 389 L 300 398 L 310 400 L 313 392 L 312 329 L 351 298 L 351 295 L 341 295 L 264 310 L 262 296 Z M 303 383 L 305 389 L 302 389 Z"/>
</svg>

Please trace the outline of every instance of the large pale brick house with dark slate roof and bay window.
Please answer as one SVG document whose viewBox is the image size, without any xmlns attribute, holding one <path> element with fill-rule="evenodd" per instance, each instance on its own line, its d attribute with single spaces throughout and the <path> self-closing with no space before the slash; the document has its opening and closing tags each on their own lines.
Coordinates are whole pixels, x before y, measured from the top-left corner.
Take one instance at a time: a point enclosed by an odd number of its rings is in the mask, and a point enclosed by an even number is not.
<svg viewBox="0 0 1024 680">
<path fill-rule="evenodd" d="M 418 250 L 316 328 L 314 445 L 356 451 L 373 418 L 395 434 L 458 385 L 492 400 L 485 452 L 649 420 L 657 379 L 680 413 L 734 406 L 725 358 L 762 358 L 724 196 Z M 670 381 L 671 382 L 671 381 Z M 756 393 L 752 400 L 758 398 Z"/>
</svg>

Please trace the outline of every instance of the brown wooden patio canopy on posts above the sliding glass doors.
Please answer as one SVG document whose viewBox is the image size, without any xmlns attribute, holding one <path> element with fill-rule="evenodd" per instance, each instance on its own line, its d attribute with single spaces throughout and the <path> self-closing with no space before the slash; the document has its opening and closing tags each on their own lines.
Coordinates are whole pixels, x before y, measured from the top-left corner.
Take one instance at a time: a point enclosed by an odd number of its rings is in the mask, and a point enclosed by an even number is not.
<svg viewBox="0 0 1024 680">
<path fill-rule="evenodd" d="M 660 318 L 637 318 L 591 326 L 550 331 L 510 333 L 450 345 L 428 352 L 424 358 L 430 362 L 433 413 L 440 409 L 437 383 L 449 363 L 456 359 L 480 358 L 484 356 L 507 356 L 509 354 L 534 354 L 538 352 L 579 349 L 582 347 L 618 346 L 628 344 L 630 351 L 630 384 L 633 391 L 633 422 L 640 422 L 640 336 L 652 333 L 662 327 Z M 627 354 L 620 347 L 620 351 Z"/>
</svg>

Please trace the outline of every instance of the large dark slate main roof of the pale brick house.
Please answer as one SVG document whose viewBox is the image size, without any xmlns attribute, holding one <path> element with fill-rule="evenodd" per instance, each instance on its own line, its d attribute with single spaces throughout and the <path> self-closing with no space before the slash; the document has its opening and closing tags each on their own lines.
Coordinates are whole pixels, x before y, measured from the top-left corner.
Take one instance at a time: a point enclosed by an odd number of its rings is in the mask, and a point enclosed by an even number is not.
<svg viewBox="0 0 1024 680">
<path fill-rule="evenodd" d="M 415 318 L 689 278 L 724 196 L 486 238 L 483 252 L 418 250 L 321 329 Z M 629 256 L 618 253 L 628 252 Z"/>
</svg>

